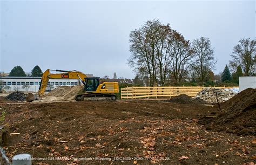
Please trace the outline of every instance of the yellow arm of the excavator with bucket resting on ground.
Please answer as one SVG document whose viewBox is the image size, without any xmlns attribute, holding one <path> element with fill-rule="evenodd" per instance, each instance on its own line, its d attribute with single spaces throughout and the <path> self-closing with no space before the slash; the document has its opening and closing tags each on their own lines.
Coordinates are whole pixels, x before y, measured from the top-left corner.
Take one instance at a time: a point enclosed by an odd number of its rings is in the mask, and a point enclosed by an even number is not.
<svg viewBox="0 0 256 165">
<path fill-rule="evenodd" d="M 50 73 L 50 71 L 63 72 L 63 73 Z M 85 84 L 84 79 L 86 74 L 78 71 L 63 71 L 63 70 L 46 70 L 41 79 L 41 84 L 38 90 L 38 96 L 32 93 L 29 93 L 26 97 L 26 101 L 31 102 L 33 100 L 38 100 L 43 97 L 46 87 L 50 79 L 79 79 Z"/>
</svg>

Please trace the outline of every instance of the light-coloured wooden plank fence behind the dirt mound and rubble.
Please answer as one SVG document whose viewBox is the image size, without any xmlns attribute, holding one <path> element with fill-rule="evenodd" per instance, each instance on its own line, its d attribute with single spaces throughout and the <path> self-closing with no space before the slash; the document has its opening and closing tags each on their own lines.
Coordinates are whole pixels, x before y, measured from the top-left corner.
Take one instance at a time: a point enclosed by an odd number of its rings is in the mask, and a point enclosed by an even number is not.
<svg viewBox="0 0 256 165">
<path fill-rule="evenodd" d="M 161 86 L 161 87 L 126 87 L 121 88 L 121 99 L 139 99 L 149 97 L 174 97 L 186 94 L 194 97 L 203 90 L 204 86 Z M 238 87 L 214 87 L 214 88 L 238 88 Z"/>
</svg>

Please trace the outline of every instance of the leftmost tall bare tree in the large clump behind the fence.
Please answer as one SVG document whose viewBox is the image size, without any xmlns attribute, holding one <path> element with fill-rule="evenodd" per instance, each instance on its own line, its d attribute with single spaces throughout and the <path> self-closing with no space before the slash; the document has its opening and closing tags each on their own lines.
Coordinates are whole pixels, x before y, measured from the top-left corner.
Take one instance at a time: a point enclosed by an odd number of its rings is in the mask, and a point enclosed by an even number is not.
<svg viewBox="0 0 256 165">
<path fill-rule="evenodd" d="M 128 60 L 129 65 L 139 74 L 149 75 L 150 86 L 157 83 L 156 44 L 160 26 L 159 20 L 148 20 L 142 28 L 130 33 L 132 56 Z"/>
</svg>

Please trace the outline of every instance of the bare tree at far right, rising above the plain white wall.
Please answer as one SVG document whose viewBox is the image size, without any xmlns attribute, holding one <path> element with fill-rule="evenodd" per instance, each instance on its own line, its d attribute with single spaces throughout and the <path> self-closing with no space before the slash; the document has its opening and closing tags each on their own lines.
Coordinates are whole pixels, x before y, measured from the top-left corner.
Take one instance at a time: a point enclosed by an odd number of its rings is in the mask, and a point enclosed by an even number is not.
<svg viewBox="0 0 256 165">
<path fill-rule="evenodd" d="M 243 38 L 239 44 L 233 48 L 230 65 L 233 67 L 241 66 L 246 76 L 253 75 L 256 72 L 256 40 Z"/>
</svg>

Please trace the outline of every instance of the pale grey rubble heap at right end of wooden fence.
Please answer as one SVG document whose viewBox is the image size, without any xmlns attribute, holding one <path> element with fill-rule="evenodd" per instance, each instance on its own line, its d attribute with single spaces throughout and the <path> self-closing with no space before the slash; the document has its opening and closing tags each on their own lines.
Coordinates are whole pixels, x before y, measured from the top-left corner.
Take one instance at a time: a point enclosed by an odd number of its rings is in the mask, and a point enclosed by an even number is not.
<svg viewBox="0 0 256 165">
<path fill-rule="evenodd" d="M 217 103 L 216 93 L 218 92 L 218 100 L 219 102 L 227 101 L 232 98 L 237 92 L 234 92 L 230 89 L 218 89 L 218 88 L 205 88 L 200 91 L 195 99 L 201 99 L 208 103 Z"/>
</svg>

